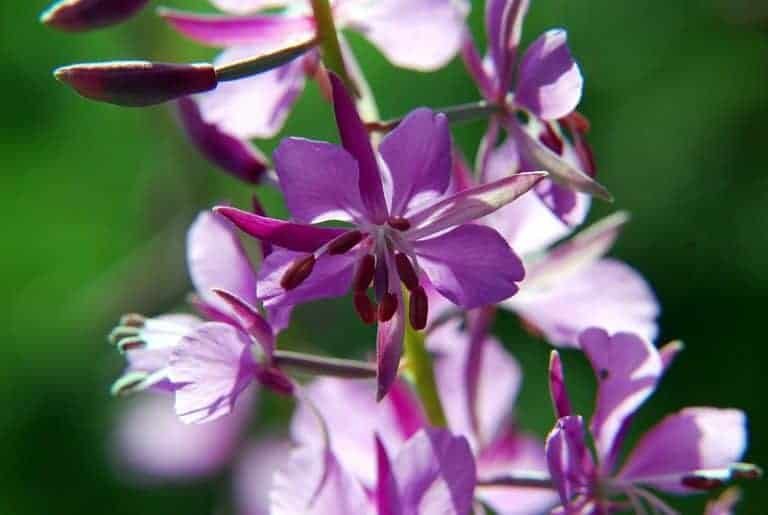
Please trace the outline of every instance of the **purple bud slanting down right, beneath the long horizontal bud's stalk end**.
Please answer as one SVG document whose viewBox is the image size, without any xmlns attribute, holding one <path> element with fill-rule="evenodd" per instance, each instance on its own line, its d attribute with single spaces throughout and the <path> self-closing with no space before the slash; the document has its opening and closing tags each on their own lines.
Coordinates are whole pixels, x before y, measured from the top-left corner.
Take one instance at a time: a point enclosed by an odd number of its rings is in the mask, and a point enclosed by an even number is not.
<svg viewBox="0 0 768 515">
<path fill-rule="evenodd" d="M 184 131 L 200 153 L 238 179 L 256 184 L 267 170 L 267 159 L 248 141 L 207 123 L 191 98 L 179 100 L 179 119 Z"/>
</svg>

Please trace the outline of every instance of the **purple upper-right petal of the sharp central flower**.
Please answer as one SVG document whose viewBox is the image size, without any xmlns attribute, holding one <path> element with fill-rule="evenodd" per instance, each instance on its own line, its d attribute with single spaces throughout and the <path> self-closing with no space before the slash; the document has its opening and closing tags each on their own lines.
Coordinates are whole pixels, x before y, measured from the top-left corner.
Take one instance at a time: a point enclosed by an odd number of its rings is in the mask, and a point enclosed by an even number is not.
<svg viewBox="0 0 768 515">
<path fill-rule="evenodd" d="M 445 192 L 451 179 L 451 134 L 445 115 L 416 109 L 379 146 L 392 182 L 390 214 L 402 216 Z"/>
</svg>

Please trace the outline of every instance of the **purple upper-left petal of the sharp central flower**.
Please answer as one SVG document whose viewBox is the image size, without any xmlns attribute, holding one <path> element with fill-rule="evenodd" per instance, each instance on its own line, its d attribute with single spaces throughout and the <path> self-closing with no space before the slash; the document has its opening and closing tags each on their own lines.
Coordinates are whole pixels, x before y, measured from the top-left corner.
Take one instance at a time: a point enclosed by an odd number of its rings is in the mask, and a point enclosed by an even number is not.
<svg viewBox="0 0 768 515">
<path fill-rule="evenodd" d="M 274 159 L 293 220 L 307 224 L 364 220 L 357 162 L 349 152 L 330 143 L 287 138 Z"/>
</svg>

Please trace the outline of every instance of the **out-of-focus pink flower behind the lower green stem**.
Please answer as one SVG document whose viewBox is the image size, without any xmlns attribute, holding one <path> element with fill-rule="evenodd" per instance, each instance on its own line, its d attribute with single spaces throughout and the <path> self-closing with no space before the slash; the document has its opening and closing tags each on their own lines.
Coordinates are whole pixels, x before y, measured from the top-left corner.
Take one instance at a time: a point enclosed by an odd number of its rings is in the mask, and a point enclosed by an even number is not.
<svg viewBox="0 0 768 515">
<path fill-rule="evenodd" d="M 511 414 L 521 373 L 517 362 L 493 338 L 479 340 L 460 331 L 457 323 L 435 329 L 428 338 L 435 355 L 438 394 L 446 410 L 448 429 L 469 442 L 479 480 L 514 470 L 546 473 L 544 448 L 538 439 L 512 425 Z M 291 432 L 303 446 L 317 447 L 323 435 L 315 430 L 314 410 L 326 422 L 328 441 L 342 467 L 370 489 L 376 483 L 371 439 L 377 435 L 390 453 L 419 430 L 429 427 L 421 404 L 410 388 L 396 381 L 384 400 L 376 403 L 369 381 L 322 378 L 312 382 Z M 350 413 L 364 413 L 350 423 Z M 503 515 L 539 513 L 556 503 L 552 491 L 478 486 L 475 497 Z"/>
</svg>

